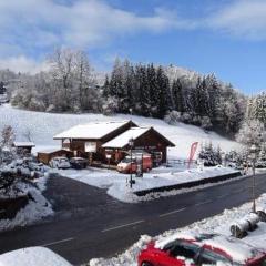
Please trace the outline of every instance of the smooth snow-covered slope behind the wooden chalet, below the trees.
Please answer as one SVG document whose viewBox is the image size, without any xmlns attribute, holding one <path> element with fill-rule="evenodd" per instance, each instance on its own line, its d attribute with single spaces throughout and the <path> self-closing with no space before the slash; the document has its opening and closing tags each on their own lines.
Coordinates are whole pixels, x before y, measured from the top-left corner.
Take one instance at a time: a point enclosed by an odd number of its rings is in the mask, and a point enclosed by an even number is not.
<svg viewBox="0 0 266 266">
<path fill-rule="evenodd" d="M 2 130 L 4 125 L 11 125 L 14 129 L 17 141 L 23 141 L 30 136 L 31 141 L 37 144 L 35 151 L 59 146 L 60 143 L 53 141 L 53 135 L 73 125 L 114 120 L 133 120 L 142 126 L 154 126 L 158 132 L 175 143 L 176 146 L 168 151 L 170 157 L 172 158 L 186 158 L 191 144 L 196 141 L 200 143 L 212 141 L 215 146 L 219 145 L 224 151 L 239 147 L 237 143 L 228 141 L 213 132 L 206 133 L 197 126 L 182 123 L 178 125 L 168 125 L 162 120 L 156 119 L 123 114 L 105 116 L 102 114 L 42 113 L 14 109 L 9 104 L 0 106 L 0 130 Z"/>
</svg>

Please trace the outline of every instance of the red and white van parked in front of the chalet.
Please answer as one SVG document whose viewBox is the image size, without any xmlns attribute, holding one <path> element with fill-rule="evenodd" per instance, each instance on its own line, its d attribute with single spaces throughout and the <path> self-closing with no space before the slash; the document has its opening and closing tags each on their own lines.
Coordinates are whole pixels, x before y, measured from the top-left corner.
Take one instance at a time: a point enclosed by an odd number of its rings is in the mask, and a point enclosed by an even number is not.
<svg viewBox="0 0 266 266">
<path fill-rule="evenodd" d="M 142 160 L 142 161 L 141 161 Z M 126 156 L 124 160 L 122 160 L 119 164 L 116 170 L 120 173 L 125 173 L 125 174 L 130 174 L 130 173 L 136 173 L 136 171 L 139 170 L 137 166 L 142 165 L 142 171 L 143 172 L 149 172 L 152 168 L 152 157 L 151 155 L 143 155 L 141 157 L 131 157 Z"/>
</svg>

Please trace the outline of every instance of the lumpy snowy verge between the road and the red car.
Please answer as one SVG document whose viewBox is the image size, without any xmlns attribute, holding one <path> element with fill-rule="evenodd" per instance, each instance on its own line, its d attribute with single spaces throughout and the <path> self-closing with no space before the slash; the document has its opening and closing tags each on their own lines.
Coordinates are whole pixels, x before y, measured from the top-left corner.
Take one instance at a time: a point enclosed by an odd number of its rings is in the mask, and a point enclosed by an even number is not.
<svg viewBox="0 0 266 266">
<path fill-rule="evenodd" d="M 263 194 L 257 200 L 257 208 L 266 209 L 266 194 Z M 162 241 L 165 237 L 171 237 L 173 234 L 178 232 L 207 232 L 207 233 L 218 233 L 225 236 L 229 236 L 229 227 L 235 222 L 239 221 L 252 209 L 252 204 L 246 203 L 239 208 L 225 209 L 223 214 L 216 215 L 211 218 L 203 219 L 201 222 L 193 223 L 183 228 L 176 228 L 174 231 L 168 231 L 154 237 L 156 241 Z M 112 258 L 94 258 L 91 259 L 88 265 L 90 266 L 136 266 L 137 254 L 145 247 L 145 245 L 152 239 L 151 236 L 141 236 L 140 241 L 136 242 L 132 247 L 125 250 L 123 254 L 112 257 Z M 259 222 L 258 228 L 254 232 L 248 232 L 248 235 L 242 239 L 243 242 L 253 245 L 257 248 L 265 249 L 266 245 L 266 223 Z"/>
</svg>

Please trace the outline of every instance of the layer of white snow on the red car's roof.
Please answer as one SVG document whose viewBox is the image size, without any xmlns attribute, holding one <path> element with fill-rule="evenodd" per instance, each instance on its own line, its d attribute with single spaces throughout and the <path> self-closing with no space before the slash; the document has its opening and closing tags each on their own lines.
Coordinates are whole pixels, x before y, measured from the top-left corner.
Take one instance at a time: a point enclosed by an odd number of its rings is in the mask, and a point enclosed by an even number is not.
<svg viewBox="0 0 266 266">
<path fill-rule="evenodd" d="M 167 244 L 176 239 L 194 241 L 198 246 L 207 245 L 224 250 L 234 262 L 245 263 L 249 258 L 256 257 L 259 252 L 253 246 L 234 237 L 219 234 L 198 234 L 193 231 L 178 232 L 167 237 L 163 237 L 155 243 L 155 247 L 163 249 Z"/>
</svg>

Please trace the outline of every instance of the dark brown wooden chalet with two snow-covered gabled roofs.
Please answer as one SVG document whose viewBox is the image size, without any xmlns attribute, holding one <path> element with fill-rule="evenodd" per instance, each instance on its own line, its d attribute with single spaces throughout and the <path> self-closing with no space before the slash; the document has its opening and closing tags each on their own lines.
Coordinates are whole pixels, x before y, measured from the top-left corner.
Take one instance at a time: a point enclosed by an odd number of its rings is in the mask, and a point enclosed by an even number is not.
<svg viewBox="0 0 266 266">
<path fill-rule="evenodd" d="M 140 127 L 132 121 L 95 122 L 71 127 L 57 134 L 63 150 L 74 156 L 116 164 L 133 150 L 147 152 L 160 163 L 166 162 L 167 147 L 175 146 L 153 127 Z M 132 146 L 130 140 L 133 140 Z"/>
</svg>

